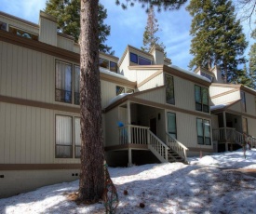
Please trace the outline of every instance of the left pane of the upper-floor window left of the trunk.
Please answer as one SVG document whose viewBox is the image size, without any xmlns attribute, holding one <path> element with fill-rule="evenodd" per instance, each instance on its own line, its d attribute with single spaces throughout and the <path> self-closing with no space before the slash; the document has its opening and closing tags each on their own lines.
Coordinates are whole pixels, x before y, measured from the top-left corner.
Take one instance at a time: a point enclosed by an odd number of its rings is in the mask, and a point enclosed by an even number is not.
<svg viewBox="0 0 256 214">
<path fill-rule="evenodd" d="M 72 103 L 72 64 L 56 61 L 55 100 Z"/>
</svg>

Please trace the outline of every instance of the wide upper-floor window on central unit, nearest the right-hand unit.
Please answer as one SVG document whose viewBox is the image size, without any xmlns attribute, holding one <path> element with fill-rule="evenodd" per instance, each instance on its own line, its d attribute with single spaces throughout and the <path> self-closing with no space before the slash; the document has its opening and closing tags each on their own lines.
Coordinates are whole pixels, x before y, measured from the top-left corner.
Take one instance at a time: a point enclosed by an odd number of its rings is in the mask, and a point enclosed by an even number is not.
<svg viewBox="0 0 256 214">
<path fill-rule="evenodd" d="M 195 86 L 195 110 L 209 113 L 208 88 Z"/>
</svg>

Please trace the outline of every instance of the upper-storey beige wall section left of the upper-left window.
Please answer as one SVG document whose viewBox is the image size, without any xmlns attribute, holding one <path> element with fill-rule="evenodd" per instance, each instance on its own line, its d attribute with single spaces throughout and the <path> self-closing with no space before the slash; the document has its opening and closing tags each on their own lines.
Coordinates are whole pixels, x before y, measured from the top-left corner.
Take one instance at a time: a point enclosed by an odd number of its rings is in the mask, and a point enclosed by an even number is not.
<svg viewBox="0 0 256 214">
<path fill-rule="evenodd" d="M 1 95 L 54 102 L 54 57 L 0 41 Z"/>
</svg>

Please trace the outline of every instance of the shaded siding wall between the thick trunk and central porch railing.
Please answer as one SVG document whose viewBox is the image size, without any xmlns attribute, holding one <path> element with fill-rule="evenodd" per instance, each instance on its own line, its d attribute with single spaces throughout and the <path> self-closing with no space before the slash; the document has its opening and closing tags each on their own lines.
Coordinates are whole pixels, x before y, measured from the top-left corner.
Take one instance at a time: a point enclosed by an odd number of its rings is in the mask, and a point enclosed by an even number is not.
<svg viewBox="0 0 256 214">
<path fill-rule="evenodd" d="M 118 144 L 119 133 L 117 127 L 118 107 L 105 114 L 105 121 L 108 126 L 105 127 L 106 141 L 105 146 Z"/>
</svg>

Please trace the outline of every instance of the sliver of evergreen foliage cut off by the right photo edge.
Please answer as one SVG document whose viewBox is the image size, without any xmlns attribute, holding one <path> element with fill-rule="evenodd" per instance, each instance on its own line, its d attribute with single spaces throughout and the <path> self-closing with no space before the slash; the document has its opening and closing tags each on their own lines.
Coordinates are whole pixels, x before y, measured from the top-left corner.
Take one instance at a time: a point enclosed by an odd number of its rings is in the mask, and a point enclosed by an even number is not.
<svg viewBox="0 0 256 214">
<path fill-rule="evenodd" d="M 256 29 L 251 33 L 251 37 L 256 39 Z M 249 76 L 252 79 L 253 88 L 256 89 L 256 43 L 249 49 Z"/>
</svg>

